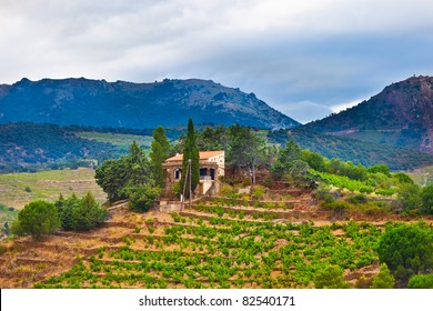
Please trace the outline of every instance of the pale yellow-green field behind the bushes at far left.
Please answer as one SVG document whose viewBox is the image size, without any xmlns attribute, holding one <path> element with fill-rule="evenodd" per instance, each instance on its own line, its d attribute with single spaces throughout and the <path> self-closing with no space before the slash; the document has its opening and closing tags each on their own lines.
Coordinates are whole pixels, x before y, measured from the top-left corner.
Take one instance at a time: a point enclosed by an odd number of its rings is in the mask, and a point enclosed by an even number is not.
<svg viewBox="0 0 433 311">
<path fill-rule="evenodd" d="M 83 195 L 88 191 L 99 202 L 105 201 L 105 193 L 95 183 L 94 171 L 89 168 L 0 174 L 0 203 L 16 209 L 22 209 L 33 200 L 54 201 L 60 193 Z"/>
</svg>

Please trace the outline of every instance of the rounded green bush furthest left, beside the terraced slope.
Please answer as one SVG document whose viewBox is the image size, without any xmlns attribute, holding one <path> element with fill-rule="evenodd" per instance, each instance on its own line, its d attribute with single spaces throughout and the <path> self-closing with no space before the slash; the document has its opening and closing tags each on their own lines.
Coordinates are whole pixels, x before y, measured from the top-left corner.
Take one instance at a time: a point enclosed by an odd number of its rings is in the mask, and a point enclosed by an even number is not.
<svg viewBox="0 0 433 311">
<path fill-rule="evenodd" d="M 36 240 L 54 232 L 60 227 L 57 208 L 46 201 L 28 203 L 19 213 L 18 220 L 12 223 L 12 233 L 31 234 Z"/>
</svg>

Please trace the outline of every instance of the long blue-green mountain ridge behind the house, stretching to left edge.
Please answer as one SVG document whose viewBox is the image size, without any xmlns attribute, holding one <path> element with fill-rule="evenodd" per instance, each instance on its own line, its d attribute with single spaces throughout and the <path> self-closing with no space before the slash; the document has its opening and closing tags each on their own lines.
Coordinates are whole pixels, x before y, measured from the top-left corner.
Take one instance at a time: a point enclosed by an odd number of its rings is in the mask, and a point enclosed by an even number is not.
<svg viewBox="0 0 433 311">
<path fill-rule="evenodd" d="M 43 79 L 0 86 L 0 123 L 36 122 L 150 129 L 158 126 L 239 123 L 266 129 L 300 123 L 254 93 L 205 80 L 154 83 Z"/>
</svg>

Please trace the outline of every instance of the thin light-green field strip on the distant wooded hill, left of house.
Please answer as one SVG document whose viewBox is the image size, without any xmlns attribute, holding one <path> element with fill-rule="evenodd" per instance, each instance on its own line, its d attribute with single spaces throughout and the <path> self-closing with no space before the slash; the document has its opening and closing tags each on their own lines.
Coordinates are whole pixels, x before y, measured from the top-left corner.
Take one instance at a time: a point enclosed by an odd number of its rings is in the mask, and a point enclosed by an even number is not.
<svg viewBox="0 0 433 311">
<path fill-rule="evenodd" d="M 78 137 L 95 140 L 99 142 L 109 142 L 119 147 L 123 151 L 128 151 L 129 147 L 135 141 L 141 148 L 148 150 L 152 143 L 151 137 L 133 136 L 133 134 L 113 134 L 113 133 L 99 133 L 99 132 L 77 132 Z"/>
</svg>

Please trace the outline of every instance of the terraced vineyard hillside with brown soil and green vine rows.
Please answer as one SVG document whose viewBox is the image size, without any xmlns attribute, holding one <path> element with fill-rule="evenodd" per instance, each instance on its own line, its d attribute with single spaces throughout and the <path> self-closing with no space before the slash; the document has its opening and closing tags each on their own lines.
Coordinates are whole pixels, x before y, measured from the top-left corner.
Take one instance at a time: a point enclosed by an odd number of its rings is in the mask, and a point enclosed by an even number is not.
<svg viewBox="0 0 433 311">
<path fill-rule="evenodd" d="M 313 288 L 330 264 L 352 283 L 379 272 L 384 221 L 348 221 L 296 190 L 272 197 L 213 198 L 171 214 L 120 203 L 100 229 L 9 242 L 1 288 Z"/>
</svg>

